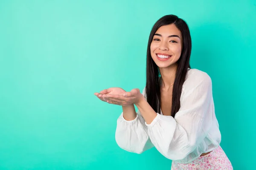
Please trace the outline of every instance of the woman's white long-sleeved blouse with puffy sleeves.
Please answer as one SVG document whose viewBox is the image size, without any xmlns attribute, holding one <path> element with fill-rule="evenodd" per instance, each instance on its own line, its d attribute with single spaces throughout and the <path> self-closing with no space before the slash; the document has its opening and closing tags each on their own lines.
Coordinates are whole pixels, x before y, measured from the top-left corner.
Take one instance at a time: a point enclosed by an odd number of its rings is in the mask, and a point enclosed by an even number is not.
<svg viewBox="0 0 256 170">
<path fill-rule="evenodd" d="M 214 150 L 221 142 L 212 81 L 207 73 L 198 69 L 188 69 L 180 110 L 174 118 L 160 112 L 148 125 L 140 111 L 131 121 L 125 120 L 122 114 L 117 119 L 116 143 L 129 152 L 143 153 L 156 147 L 166 158 L 186 164 Z"/>
</svg>

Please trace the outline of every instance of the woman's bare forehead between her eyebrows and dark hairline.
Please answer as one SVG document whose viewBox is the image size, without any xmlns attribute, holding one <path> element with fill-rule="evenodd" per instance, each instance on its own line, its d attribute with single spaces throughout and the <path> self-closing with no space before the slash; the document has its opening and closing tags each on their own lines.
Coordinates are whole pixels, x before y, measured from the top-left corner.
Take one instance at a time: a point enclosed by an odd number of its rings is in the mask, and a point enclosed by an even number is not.
<svg viewBox="0 0 256 170">
<path fill-rule="evenodd" d="M 155 34 L 161 34 L 163 37 L 168 37 L 169 35 L 178 35 L 181 37 L 181 32 L 175 24 L 161 26 Z"/>
</svg>

